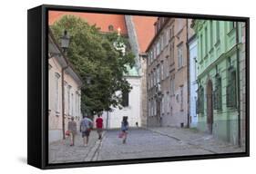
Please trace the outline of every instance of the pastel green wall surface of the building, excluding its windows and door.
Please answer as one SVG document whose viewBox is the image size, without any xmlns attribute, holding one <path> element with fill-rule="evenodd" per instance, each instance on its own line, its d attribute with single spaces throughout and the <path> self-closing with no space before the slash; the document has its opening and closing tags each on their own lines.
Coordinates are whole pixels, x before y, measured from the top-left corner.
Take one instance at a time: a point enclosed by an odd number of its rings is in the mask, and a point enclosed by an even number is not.
<svg viewBox="0 0 256 174">
<path fill-rule="evenodd" d="M 219 32 L 217 23 L 220 26 Z M 204 94 L 207 92 L 209 80 L 212 82 L 213 91 L 215 90 L 217 71 L 221 77 L 222 109 L 213 110 L 212 134 L 220 140 L 238 144 L 238 111 L 236 108 L 228 108 L 226 104 L 228 68 L 230 64 L 235 69 L 237 67 L 236 27 L 232 28 L 231 24 L 225 21 L 196 20 L 193 28 L 198 39 L 198 82 L 203 86 Z M 238 30 L 241 43 L 241 23 L 238 23 Z M 208 131 L 207 99 L 204 96 L 204 111 L 199 114 L 198 122 L 200 131 Z"/>
</svg>

